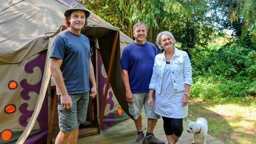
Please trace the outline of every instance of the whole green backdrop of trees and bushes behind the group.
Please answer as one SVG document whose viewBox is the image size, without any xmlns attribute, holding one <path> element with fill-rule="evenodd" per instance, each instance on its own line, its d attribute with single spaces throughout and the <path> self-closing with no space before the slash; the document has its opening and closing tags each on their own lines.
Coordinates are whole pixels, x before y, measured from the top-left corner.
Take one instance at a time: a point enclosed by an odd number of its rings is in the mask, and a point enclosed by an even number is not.
<svg viewBox="0 0 256 144">
<path fill-rule="evenodd" d="M 80 0 L 88 9 L 133 37 L 136 22 L 148 26 L 147 40 L 172 32 L 193 65 L 194 97 L 228 101 L 256 93 L 256 1 Z M 221 34 L 223 29 L 234 35 Z M 193 48 L 193 49 L 190 49 Z M 241 98 L 241 99 L 240 99 Z"/>
</svg>

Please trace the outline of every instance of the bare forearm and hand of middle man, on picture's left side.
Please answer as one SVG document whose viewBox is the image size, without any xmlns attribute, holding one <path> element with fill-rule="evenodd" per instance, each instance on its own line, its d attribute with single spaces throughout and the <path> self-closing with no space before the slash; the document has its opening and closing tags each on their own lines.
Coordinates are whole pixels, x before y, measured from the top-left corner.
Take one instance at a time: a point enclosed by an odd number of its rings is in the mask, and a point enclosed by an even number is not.
<svg viewBox="0 0 256 144">
<path fill-rule="evenodd" d="M 125 97 L 128 103 L 133 103 L 133 94 L 130 87 L 128 70 L 122 70 L 122 80 L 125 87 Z"/>
</svg>

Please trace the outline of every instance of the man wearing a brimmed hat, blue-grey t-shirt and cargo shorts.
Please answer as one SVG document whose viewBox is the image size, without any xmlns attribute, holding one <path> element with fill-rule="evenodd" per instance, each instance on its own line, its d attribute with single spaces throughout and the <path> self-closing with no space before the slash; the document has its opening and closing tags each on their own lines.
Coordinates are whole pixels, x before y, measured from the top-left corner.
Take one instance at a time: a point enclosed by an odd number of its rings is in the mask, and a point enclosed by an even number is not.
<svg viewBox="0 0 256 144">
<path fill-rule="evenodd" d="M 90 40 L 81 34 L 90 12 L 74 3 L 64 15 L 68 29 L 54 37 L 50 55 L 60 129 L 55 143 L 76 143 L 79 124 L 86 122 L 89 96 L 97 94 Z"/>
</svg>

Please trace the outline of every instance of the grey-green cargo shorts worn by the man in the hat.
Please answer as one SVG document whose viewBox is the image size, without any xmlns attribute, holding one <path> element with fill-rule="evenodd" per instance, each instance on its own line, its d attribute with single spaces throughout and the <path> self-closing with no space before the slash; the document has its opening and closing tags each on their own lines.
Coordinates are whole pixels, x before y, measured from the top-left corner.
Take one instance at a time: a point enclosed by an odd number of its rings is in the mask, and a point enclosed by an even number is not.
<svg viewBox="0 0 256 144">
<path fill-rule="evenodd" d="M 72 131 L 78 127 L 78 123 L 86 122 L 89 104 L 89 92 L 70 94 L 72 108 L 65 109 L 61 106 L 60 95 L 58 95 L 59 130 Z"/>
</svg>

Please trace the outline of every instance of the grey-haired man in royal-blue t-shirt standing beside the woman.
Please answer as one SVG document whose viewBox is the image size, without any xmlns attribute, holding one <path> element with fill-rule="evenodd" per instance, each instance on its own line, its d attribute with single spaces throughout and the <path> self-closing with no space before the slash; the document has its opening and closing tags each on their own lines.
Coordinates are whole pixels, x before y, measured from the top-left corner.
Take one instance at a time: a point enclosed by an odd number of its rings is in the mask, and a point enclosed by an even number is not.
<svg viewBox="0 0 256 144">
<path fill-rule="evenodd" d="M 145 40 L 147 27 L 144 23 L 136 23 L 133 27 L 135 40 L 124 48 L 121 58 L 122 80 L 125 86 L 126 101 L 129 112 L 134 116 L 138 131 L 135 143 L 164 143 L 153 134 L 157 119 L 160 118 L 153 108 L 147 106 L 148 85 L 153 73 L 155 56 L 159 53 L 157 47 Z M 147 132 L 144 137 L 142 129 L 141 110 L 144 105 L 147 119 Z"/>
</svg>

